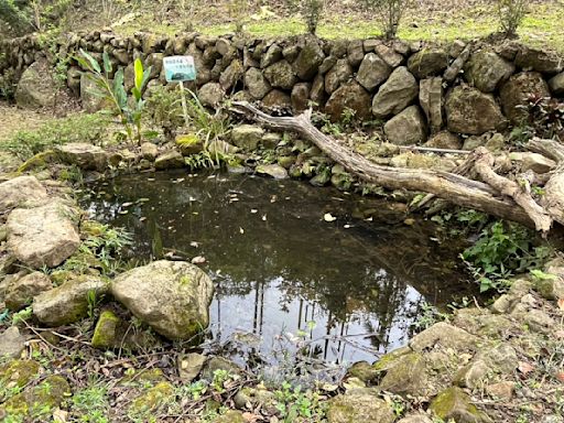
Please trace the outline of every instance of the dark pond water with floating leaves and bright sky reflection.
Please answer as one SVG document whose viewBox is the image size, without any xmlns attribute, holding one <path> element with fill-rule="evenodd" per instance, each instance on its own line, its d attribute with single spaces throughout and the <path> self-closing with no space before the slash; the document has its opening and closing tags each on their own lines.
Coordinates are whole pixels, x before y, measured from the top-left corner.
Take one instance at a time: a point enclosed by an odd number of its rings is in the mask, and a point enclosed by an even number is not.
<svg viewBox="0 0 564 423">
<path fill-rule="evenodd" d="M 123 175 L 89 189 L 83 205 L 131 231 L 135 258 L 205 258 L 216 283 L 206 346 L 239 360 L 270 366 L 301 350 L 373 361 L 406 343 L 423 304 L 475 293 L 434 224 L 406 225 L 383 199 L 228 173 Z"/>
</svg>

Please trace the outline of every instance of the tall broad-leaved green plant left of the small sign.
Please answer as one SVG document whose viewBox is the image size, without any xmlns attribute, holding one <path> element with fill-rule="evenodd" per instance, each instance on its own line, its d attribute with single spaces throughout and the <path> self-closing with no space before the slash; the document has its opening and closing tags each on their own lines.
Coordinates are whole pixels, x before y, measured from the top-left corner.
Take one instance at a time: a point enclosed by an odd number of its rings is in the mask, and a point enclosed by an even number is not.
<svg viewBox="0 0 564 423">
<path fill-rule="evenodd" d="M 80 54 L 82 56 L 77 56 L 76 61 L 89 72 L 88 77 L 98 88 L 91 94 L 104 98 L 111 106 L 113 113 L 120 118 L 126 129 L 128 140 L 141 144 L 141 120 L 145 107 L 143 89 L 149 82 L 151 66 L 145 69 L 141 59 L 135 59 L 134 84 L 131 88 L 131 97 L 129 97 L 124 87 L 123 68 L 118 68 L 113 79 L 110 78 L 113 68 L 107 52 L 102 54 L 101 66 L 96 58 L 82 48 Z"/>
</svg>

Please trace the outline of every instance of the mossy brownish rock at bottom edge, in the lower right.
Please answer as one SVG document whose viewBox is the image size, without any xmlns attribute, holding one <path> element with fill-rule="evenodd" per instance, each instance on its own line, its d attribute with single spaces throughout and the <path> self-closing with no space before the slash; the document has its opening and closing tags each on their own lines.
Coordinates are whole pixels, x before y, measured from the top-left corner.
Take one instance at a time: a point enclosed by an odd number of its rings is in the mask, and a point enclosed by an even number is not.
<svg viewBox="0 0 564 423">
<path fill-rule="evenodd" d="M 490 423 L 491 419 L 479 411 L 470 402 L 470 398 L 460 389 L 451 387 L 441 392 L 433 402 L 430 410 L 445 422 L 454 420 L 457 423 Z"/>
</svg>

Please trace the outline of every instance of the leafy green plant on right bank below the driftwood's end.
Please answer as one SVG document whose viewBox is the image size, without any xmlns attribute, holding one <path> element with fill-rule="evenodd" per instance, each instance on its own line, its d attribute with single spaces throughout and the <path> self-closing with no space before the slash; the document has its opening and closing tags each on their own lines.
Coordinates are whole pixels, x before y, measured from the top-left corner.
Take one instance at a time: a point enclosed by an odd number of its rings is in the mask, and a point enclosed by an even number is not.
<svg viewBox="0 0 564 423">
<path fill-rule="evenodd" d="M 496 221 L 486 227 L 462 258 L 480 284 L 480 291 L 503 291 L 514 272 L 542 267 L 550 254 L 547 247 L 535 247 L 534 235 L 512 223 Z"/>
</svg>

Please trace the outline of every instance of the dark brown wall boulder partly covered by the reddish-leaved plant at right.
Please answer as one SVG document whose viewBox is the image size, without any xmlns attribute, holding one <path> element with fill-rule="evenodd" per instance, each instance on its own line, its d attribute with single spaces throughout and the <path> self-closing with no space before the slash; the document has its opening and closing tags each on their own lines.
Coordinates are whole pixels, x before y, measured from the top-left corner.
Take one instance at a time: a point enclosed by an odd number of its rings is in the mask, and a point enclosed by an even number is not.
<svg viewBox="0 0 564 423">
<path fill-rule="evenodd" d="M 503 113 L 511 120 L 511 123 L 520 124 L 523 119 L 528 118 L 527 110 L 520 106 L 527 106 L 530 96 L 533 98 L 550 96 L 549 85 L 538 72 L 521 72 L 511 76 L 503 84 L 500 100 Z"/>
</svg>

